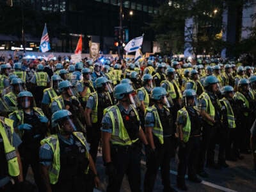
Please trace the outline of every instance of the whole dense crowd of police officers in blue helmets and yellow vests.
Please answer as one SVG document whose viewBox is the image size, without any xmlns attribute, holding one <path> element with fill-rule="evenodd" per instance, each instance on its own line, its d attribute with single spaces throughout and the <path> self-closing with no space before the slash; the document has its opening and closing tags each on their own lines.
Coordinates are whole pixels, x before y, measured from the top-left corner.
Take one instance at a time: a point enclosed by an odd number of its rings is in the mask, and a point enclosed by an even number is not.
<svg viewBox="0 0 256 192">
<path fill-rule="evenodd" d="M 29 166 L 38 191 L 93 191 L 99 148 L 111 192 L 125 174 L 131 191 L 141 191 L 143 154 L 144 191 L 153 191 L 159 168 L 163 191 L 174 191 L 175 154 L 184 191 L 187 170 L 200 183 L 211 177 L 205 166 L 227 168 L 241 154 L 253 154 L 256 170 L 253 67 L 161 57 L 66 64 L 1 64 L 0 191 L 33 191 L 24 181 Z"/>
</svg>

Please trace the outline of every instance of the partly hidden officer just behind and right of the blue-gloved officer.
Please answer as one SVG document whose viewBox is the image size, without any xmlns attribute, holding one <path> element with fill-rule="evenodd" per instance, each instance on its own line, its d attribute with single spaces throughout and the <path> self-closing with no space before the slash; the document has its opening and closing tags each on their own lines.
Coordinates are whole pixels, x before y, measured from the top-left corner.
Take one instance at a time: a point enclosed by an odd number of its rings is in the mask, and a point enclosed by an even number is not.
<svg viewBox="0 0 256 192">
<path fill-rule="evenodd" d="M 44 90 L 44 95 L 42 99 L 42 109 L 47 118 L 51 118 L 50 104 L 54 97 L 60 95 L 58 90 L 58 85 L 61 82 L 61 77 L 59 75 L 53 75 L 51 77 L 51 87 Z"/>
</svg>

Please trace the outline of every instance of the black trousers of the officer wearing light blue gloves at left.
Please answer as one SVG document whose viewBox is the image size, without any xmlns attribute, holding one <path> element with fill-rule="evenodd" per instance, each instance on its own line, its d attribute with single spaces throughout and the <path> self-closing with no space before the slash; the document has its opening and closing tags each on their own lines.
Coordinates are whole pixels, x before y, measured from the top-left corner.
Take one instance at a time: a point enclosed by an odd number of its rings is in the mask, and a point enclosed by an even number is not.
<svg viewBox="0 0 256 192">
<path fill-rule="evenodd" d="M 42 185 L 42 177 L 40 174 L 39 149 L 20 147 L 20 158 L 22 161 L 23 178 L 26 179 L 26 175 L 28 173 L 28 168 L 30 164 L 33 171 L 34 179 L 36 182 L 36 186 L 38 187 L 38 191 L 44 191 L 42 190 L 43 185 Z"/>
</svg>

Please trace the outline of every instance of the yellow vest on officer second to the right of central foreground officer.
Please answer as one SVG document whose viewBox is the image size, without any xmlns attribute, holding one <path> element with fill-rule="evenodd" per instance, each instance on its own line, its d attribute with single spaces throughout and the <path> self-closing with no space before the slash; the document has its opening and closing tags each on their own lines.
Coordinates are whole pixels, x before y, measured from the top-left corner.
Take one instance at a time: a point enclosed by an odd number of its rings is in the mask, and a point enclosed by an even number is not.
<svg viewBox="0 0 256 192">
<path fill-rule="evenodd" d="M 183 141 L 187 143 L 189 140 L 190 131 L 191 131 L 191 122 L 188 115 L 188 111 L 185 107 L 178 111 L 177 119 L 179 119 L 180 116 L 182 116 L 182 119 L 184 120 L 184 122 L 186 122 L 184 127 L 182 127 L 182 133 L 183 133 Z"/>
</svg>

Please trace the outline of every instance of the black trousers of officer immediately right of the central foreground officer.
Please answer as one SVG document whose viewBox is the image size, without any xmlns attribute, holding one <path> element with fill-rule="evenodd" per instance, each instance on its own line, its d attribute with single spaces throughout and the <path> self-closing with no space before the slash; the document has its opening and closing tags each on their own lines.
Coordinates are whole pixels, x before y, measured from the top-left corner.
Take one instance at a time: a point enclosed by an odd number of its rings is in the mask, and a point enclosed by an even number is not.
<svg viewBox="0 0 256 192">
<path fill-rule="evenodd" d="M 159 167 L 161 168 L 164 191 L 170 191 L 170 160 L 173 157 L 174 142 L 172 137 L 164 138 L 164 144 L 156 147 L 154 154 L 147 154 L 147 171 L 144 179 L 144 191 L 153 191 Z"/>
</svg>

